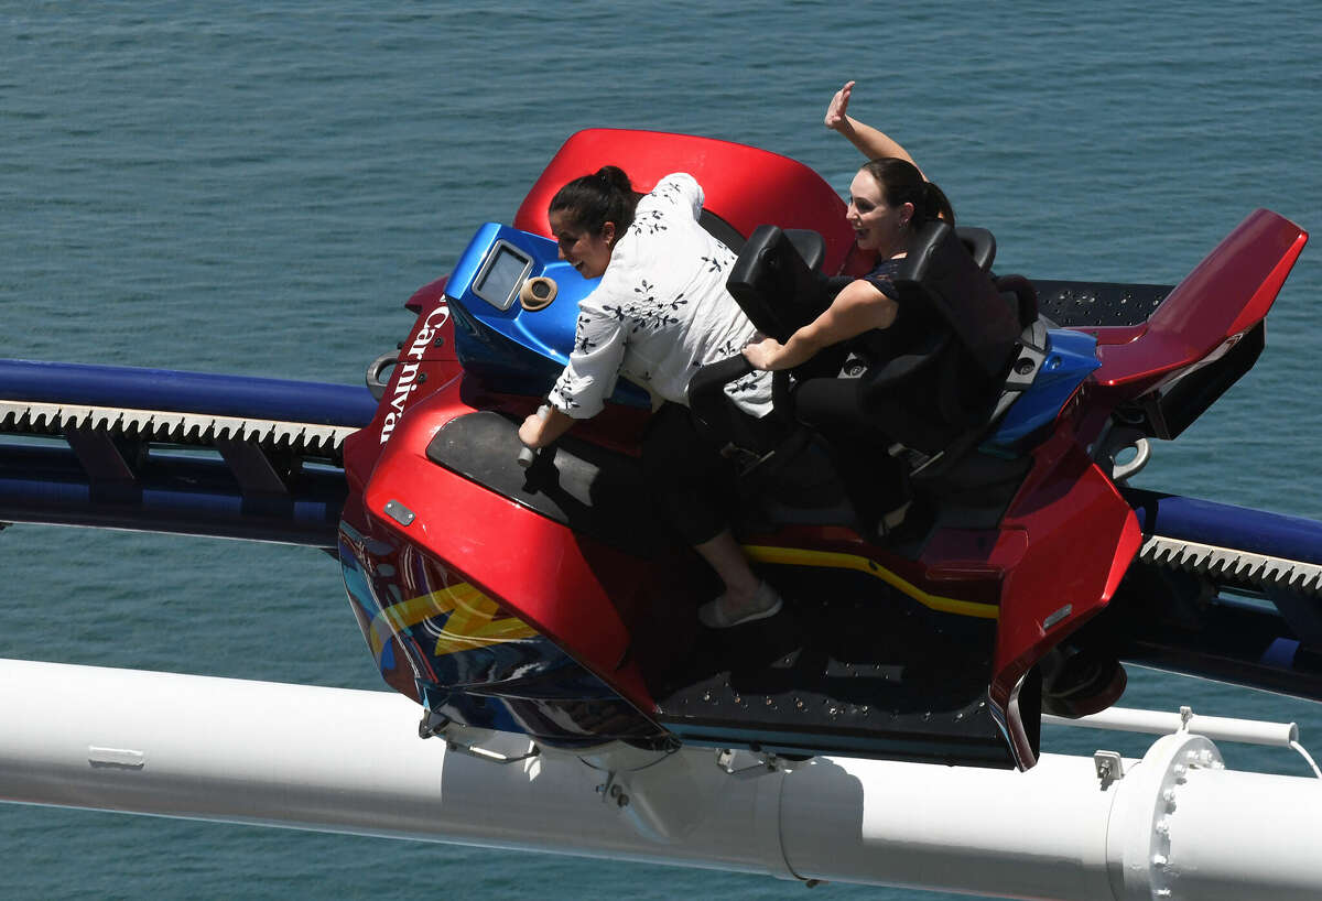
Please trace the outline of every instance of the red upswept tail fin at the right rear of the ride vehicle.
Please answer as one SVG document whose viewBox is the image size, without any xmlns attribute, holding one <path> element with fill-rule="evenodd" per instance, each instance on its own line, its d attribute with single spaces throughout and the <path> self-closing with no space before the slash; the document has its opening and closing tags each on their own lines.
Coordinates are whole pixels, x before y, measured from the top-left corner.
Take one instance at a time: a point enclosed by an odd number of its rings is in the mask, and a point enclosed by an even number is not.
<svg viewBox="0 0 1322 901">
<path fill-rule="evenodd" d="M 1270 210 L 1257 210 L 1181 281 L 1129 343 L 1097 347 L 1099 384 L 1157 384 L 1260 322 L 1309 235 Z"/>
</svg>

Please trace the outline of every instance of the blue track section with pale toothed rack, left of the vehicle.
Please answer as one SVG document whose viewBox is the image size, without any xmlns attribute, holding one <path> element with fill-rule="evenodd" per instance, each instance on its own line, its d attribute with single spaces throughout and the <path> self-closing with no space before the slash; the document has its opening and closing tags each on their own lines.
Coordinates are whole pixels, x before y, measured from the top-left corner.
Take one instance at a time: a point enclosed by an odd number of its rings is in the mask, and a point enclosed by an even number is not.
<svg viewBox="0 0 1322 901">
<path fill-rule="evenodd" d="M 365 387 L 0 361 L 0 521 L 334 547 Z"/>
</svg>

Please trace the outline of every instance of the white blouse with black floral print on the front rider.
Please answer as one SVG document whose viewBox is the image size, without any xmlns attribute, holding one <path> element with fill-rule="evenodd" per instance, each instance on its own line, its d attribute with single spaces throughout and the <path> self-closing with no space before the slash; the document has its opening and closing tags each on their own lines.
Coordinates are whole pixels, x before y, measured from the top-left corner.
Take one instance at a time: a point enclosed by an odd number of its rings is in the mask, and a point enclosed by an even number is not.
<svg viewBox="0 0 1322 901">
<path fill-rule="evenodd" d="M 574 419 L 602 411 L 620 375 L 687 406 L 699 366 L 738 354 L 756 329 L 726 291 L 734 252 L 698 225 L 702 188 L 687 173 L 662 178 L 639 199 L 602 283 L 579 301 L 570 362 L 550 402 Z M 771 411 L 771 373 L 726 386 L 744 412 Z"/>
</svg>

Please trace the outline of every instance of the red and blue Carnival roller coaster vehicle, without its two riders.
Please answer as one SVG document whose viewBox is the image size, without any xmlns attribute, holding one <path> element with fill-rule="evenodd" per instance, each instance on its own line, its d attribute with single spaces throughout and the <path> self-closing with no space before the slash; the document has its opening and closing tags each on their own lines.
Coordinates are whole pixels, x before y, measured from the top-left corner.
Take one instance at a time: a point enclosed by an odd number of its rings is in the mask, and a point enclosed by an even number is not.
<svg viewBox="0 0 1322 901">
<path fill-rule="evenodd" d="M 481 226 L 455 271 L 414 295 L 375 417 L 345 443 L 340 558 L 370 650 L 424 705 L 424 732 L 453 721 L 558 748 L 1026 769 L 1043 708 L 1087 713 L 1120 695 L 1118 655 L 1183 642 L 1183 668 L 1211 659 L 1183 633 L 1136 642 L 1142 617 L 1108 618 L 1157 536 L 1158 499 L 1122 482 L 1147 439 L 1177 437 L 1253 365 L 1301 229 L 1259 210 L 1171 289 L 997 276 L 989 233 L 943 225 L 899 279 L 949 322 L 924 365 L 993 338 L 981 350 L 1006 365 L 985 407 L 911 454 L 921 528 L 891 542 L 855 531 L 847 486 L 798 429 L 743 477 L 735 528 L 787 609 L 709 633 L 695 609 L 717 581 L 642 501 L 644 392 L 621 384 L 603 415 L 517 462 L 517 425 L 563 366 L 592 288 L 557 260 L 546 207 L 607 162 L 644 190 L 676 170 L 702 184 L 703 223 L 740 251 L 732 291 L 763 330 L 810 313 L 820 299 L 795 306 L 805 285 L 867 263 L 836 192 L 793 160 L 595 129 L 561 148 L 513 226 Z M 976 334 L 965 291 L 1003 297 L 1013 330 Z M 1118 464 L 1126 452 L 1138 460 Z"/>
</svg>

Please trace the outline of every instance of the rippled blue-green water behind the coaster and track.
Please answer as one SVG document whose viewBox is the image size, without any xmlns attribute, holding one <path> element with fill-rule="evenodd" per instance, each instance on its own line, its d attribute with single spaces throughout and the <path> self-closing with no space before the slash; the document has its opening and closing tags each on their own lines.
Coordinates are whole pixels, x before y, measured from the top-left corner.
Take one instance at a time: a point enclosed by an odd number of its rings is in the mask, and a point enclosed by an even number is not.
<svg viewBox="0 0 1322 901">
<path fill-rule="evenodd" d="M 1322 7 L 1293 5 L 3 3 L 0 357 L 357 383 L 405 336 L 403 300 L 477 223 L 513 218 L 574 129 L 744 141 L 843 189 L 854 151 L 821 114 L 846 78 L 853 112 L 995 233 L 999 271 L 1173 283 L 1257 206 L 1322 229 Z M 1137 484 L 1322 518 L 1319 288 L 1310 247 L 1263 361 Z M 0 657 L 379 684 L 316 552 L 13 527 L 0 567 Z M 1322 740 L 1322 705 L 1188 679 L 1133 671 L 1125 703 L 1289 719 Z M 1285 752 L 1223 750 L 1303 773 Z M 0 856 L 7 898 L 804 894 L 15 806 L 0 807 Z"/>
</svg>

